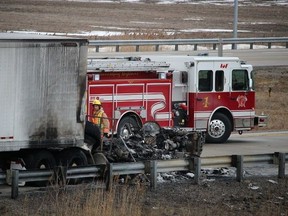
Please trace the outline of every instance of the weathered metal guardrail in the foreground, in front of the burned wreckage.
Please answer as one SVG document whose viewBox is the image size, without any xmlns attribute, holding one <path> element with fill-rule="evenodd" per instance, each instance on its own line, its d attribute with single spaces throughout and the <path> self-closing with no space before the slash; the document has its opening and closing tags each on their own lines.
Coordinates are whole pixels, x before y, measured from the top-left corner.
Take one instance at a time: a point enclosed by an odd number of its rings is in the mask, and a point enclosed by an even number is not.
<svg viewBox="0 0 288 216">
<path fill-rule="evenodd" d="M 172 171 L 192 171 L 194 172 L 195 183 L 199 183 L 201 168 L 211 167 L 236 167 L 236 179 L 243 179 L 243 165 L 246 164 L 278 164 L 278 177 L 285 177 L 285 163 L 288 162 L 288 154 L 276 152 L 274 154 L 257 155 L 231 155 L 215 157 L 191 157 L 188 159 L 173 160 L 153 160 L 130 163 L 111 163 L 105 165 L 91 165 L 85 167 L 57 167 L 55 170 L 9 170 L 6 173 L 0 172 L 0 185 L 11 183 L 11 197 L 17 198 L 20 182 L 50 181 L 65 184 L 67 180 L 82 178 L 103 177 L 104 168 L 106 172 L 106 188 L 109 190 L 113 183 L 113 176 L 131 174 L 150 174 L 150 185 L 156 188 L 157 174 Z M 11 173 L 9 173 L 11 172 Z"/>
</svg>

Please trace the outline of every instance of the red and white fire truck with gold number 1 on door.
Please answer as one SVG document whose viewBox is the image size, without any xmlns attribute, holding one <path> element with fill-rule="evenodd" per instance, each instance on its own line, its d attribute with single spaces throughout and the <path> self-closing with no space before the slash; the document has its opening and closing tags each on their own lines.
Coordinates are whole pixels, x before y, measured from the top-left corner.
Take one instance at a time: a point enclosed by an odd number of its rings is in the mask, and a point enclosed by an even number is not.
<svg viewBox="0 0 288 216">
<path fill-rule="evenodd" d="M 99 99 L 121 137 L 157 122 L 223 143 L 232 131 L 267 124 L 267 116 L 255 114 L 252 65 L 237 57 L 105 57 L 88 59 L 87 69 L 88 119 Z"/>
</svg>

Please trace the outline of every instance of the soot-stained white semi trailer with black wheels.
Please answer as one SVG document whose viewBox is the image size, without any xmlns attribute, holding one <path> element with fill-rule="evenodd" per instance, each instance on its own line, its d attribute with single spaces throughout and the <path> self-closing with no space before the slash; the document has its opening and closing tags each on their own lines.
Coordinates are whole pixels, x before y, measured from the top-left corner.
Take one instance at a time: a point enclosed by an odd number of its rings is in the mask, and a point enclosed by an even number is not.
<svg viewBox="0 0 288 216">
<path fill-rule="evenodd" d="M 85 165 L 86 39 L 0 33 L 0 168 Z"/>
</svg>

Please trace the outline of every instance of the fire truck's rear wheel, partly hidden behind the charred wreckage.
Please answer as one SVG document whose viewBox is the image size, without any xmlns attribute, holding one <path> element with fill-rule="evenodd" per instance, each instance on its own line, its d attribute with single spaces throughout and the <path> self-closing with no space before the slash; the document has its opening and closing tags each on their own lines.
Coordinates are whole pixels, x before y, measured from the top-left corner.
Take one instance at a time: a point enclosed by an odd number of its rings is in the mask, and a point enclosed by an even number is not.
<svg viewBox="0 0 288 216">
<path fill-rule="evenodd" d="M 118 126 L 117 135 L 123 139 L 128 139 L 131 135 L 137 133 L 140 127 L 135 118 L 131 116 L 124 117 Z"/>
</svg>

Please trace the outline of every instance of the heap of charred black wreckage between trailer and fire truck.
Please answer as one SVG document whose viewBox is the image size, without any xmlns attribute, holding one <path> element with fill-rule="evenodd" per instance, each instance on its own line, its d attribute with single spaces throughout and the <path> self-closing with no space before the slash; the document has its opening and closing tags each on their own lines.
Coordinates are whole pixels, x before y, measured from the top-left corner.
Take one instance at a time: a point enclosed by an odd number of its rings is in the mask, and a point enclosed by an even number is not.
<svg viewBox="0 0 288 216">
<path fill-rule="evenodd" d="M 88 124 L 90 131 L 100 135 L 96 125 Z M 205 142 L 204 132 L 179 127 L 164 128 L 156 122 L 147 122 L 141 129 L 134 128 L 131 131 L 125 137 L 98 138 L 98 142 L 94 144 L 86 131 L 85 142 L 90 145 L 93 155 L 101 153 L 111 163 L 199 157 Z"/>
</svg>

